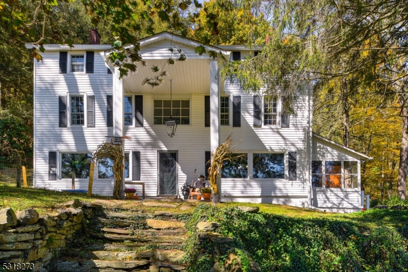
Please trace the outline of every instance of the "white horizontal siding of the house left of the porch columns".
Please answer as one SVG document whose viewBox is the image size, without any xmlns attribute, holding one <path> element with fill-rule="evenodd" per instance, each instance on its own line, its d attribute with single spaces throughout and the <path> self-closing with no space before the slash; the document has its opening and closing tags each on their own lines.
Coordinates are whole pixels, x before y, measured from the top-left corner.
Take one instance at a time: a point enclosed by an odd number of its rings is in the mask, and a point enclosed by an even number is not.
<svg viewBox="0 0 408 272">
<path fill-rule="evenodd" d="M 70 55 L 81 55 L 69 52 Z M 48 180 L 48 152 L 62 153 L 92 152 L 97 146 L 107 141 L 107 135 L 112 134 L 112 128 L 106 126 L 106 96 L 112 95 L 112 74 L 107 74 L 107 67 L 101 57 L 103 52 L 95 51 L 94 73 L 70 73 L 68 56 L 68 73 L 59 73 L 59 52 L 45 51 L 41 53 L 43 60 L 34 61 L 35 78 L 35 130 L 34 130 L 34 160 L 36 165 L 36 186 L 50 189 L 70 189 L 71 179 Z M 70 96 L 84 96 L 85 120 L 86 96 L 95 96 L 95 127 L 84 125 L 70 126 Z M 59 127 L 59 96 L 66 96 L 67 125 Z M 57 169 L 61 177 L 61 155 Z M 97 169 L 95 169 L 97 172 Z M 76 189 L 88 189 L 88 179 L 79 179 Z M 113 180 L 93 184 L 94 194 L 112 195 Z"/>
</svg>

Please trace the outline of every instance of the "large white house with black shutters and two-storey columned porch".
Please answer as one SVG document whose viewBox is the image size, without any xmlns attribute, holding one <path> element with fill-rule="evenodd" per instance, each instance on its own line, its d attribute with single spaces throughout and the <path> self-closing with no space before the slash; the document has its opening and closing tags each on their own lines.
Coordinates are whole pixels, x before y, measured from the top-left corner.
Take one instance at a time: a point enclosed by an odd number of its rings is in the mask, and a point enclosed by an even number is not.
<svg viewBox="0 0 408 272">
<path fill-rule="evenodd" d="M 92 152 L 112 137 L 129 136 L 126 187 L 139 191 L 132 182 L 143 182 L 147 198 L 182 195 L 179 188 L 191 183 L 194 169 L 208 175 L 211 152 L 232 133 L 235 142 L 242 140 L 244 157 L 223 168 L 225 201 L 362 208 L 360 168 L 369 157 L 312 133 L 310 86 L 299 91 L 296 114 L 285 116 L 279 100 L 222 80 L 222 62 L 194 51 L 200 43 L 167 32 L 139 43 L 146 66 L 137 64 L 137 72 L 122 79 L 107 61 L 110 45 L 44 46 L 43 60 L 34 61 L 36 187 L 70 189 L 74 170 L 75 188 L 87 189 Z M 185 61 L 177 61 L 177 49 Z M 206 49 L 239 60 L 262 47 Z M 158 75 L 154 66 L 167 76 L 152 88 L 143 81 Z M 170 112 L 179 122 L 172 138 L 164 125 Z M 93 193 L 112 195 L 110 168 L 109 160 L 97 163 Z"/>
</svg>

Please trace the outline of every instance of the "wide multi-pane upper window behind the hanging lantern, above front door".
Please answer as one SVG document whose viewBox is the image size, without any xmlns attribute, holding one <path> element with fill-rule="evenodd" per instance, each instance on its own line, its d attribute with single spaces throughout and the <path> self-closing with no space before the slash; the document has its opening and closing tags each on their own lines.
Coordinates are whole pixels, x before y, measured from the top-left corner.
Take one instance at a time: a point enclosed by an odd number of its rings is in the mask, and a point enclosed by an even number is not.
<svg viewBox="0 0 408 272">
<path fill-rule="evenodd" d="M 190 100 L 155 99 L 154 106 L 154 124 L 163 125 L 170 115 L 179 125 L 190 124 Z"/>
</svg>

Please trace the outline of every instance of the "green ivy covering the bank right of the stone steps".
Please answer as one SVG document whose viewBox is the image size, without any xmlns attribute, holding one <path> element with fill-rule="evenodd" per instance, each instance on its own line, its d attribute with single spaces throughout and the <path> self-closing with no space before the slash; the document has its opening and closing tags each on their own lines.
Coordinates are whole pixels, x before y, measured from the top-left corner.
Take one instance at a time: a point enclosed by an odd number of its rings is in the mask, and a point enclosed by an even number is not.
<svg viewBox="0 0 408 272">
<path fill-rule="evenodd" d="M 263 271 L 408 271 L 408 211 L 374 209 L 355 214 L 301 218 L 247 213 L 234 207 L 199 205 L 187 228 L 196 239 L 199 221 L 216 221 Z M 192 238 L 192 239 L 193 239 Z M 189 271 L 225 260 L 227 248 L 211 241 L 188 248 Z M 186 259 L 187 260 L 187 259 Z M 211 261 L 210 261 L 211 260 Z"/>
</svg>

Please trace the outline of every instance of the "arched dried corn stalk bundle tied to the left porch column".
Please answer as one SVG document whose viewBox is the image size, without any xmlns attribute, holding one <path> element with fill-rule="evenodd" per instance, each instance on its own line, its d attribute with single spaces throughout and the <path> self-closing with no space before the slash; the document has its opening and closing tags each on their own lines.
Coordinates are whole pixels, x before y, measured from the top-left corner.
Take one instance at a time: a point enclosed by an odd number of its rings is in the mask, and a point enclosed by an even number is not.
<svg viewBox="0 0 408 272">
<path fill-rule="evenodd" d="M 110 158 L 113 161 L 112 171 L 115 176 L 115 185 L 113 187 L 113 198 L 119 199 L 119 188 L 122 180 L 124 156 L 122 155 L 122 146 L 114 145 L 109 142 L 105 142 L 98 145 L 98 148 L 92 155 L 92 160 L 97 161 L 105 157 Z"/>
</svg>

